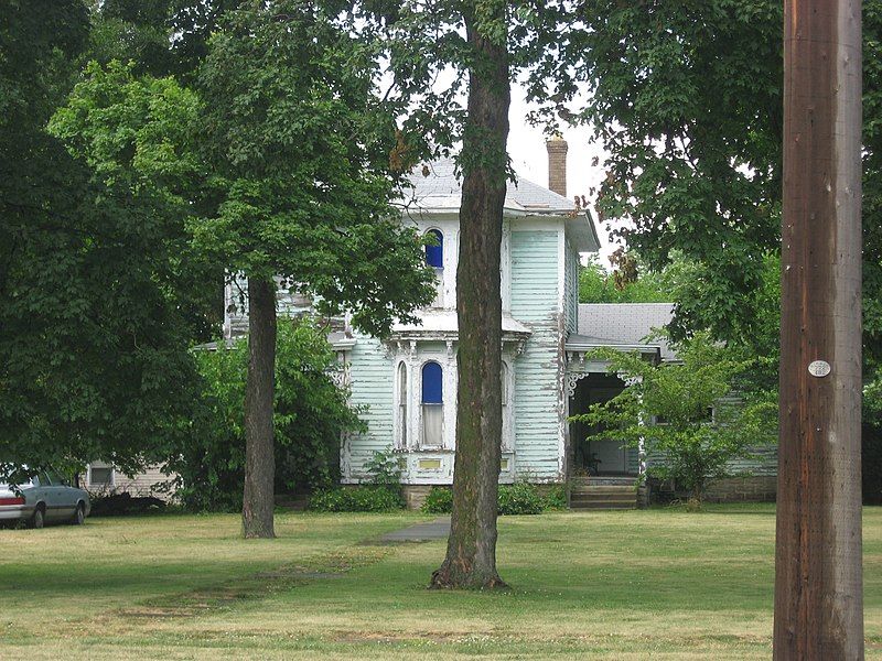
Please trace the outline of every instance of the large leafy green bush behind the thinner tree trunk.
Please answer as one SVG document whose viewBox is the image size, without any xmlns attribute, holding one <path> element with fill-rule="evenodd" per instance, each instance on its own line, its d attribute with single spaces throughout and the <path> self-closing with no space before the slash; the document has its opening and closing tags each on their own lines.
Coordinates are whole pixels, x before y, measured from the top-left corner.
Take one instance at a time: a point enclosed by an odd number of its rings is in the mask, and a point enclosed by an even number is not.
<svg viewBox="0 0 882 661">
<path fill-rule="evenodd" d="M 224 346 L 219 343 L 220 347 Z M 193 510 L 241 507 L 245 475 L 245 340 L 229 349 L 197 350 L 203 405 L 192 433 L 169 448 L 168 468 L 181 477 L 178 491 Z M 276 362 L 276 489 L 327 487 L 337 478 L 340 437 L 363 429 L 346 392 L 334 383 L 338 369 L 320 328 L 309 321 L 279 324 Z"/>
</svg>

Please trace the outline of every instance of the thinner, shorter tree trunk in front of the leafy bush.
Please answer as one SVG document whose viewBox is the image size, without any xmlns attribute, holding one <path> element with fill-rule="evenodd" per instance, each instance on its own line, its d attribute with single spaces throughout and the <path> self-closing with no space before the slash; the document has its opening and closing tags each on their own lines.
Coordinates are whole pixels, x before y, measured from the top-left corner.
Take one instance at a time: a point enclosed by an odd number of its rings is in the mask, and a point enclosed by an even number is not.
<svg viewBox="0 0 882 661">
<path fill-rule="evenodd" d="M 276 380 L 276 285 L 248 279 L 248 379 L 245 386 L 246 538 L 273 538 L 276 452 L 272 404 Z"/>
</svg>

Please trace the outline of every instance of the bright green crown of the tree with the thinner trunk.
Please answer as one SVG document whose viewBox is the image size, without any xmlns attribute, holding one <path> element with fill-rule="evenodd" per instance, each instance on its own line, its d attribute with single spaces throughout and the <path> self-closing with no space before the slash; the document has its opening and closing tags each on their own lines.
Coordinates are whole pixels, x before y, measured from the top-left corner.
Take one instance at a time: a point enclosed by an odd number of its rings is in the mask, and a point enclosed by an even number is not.
<svg viewBox="0 0 882 661">
<path fill-rule="evenodd" d="M 282 275 L 326 314 L 377 336 L 433 296 L 422 242 L 391 206 L 400 173 L 378 64 L 333 8 L 284 0 L 223 21 L 198 69 L 206 213 L 201 251 L 249 278 Z"/>
</svg>

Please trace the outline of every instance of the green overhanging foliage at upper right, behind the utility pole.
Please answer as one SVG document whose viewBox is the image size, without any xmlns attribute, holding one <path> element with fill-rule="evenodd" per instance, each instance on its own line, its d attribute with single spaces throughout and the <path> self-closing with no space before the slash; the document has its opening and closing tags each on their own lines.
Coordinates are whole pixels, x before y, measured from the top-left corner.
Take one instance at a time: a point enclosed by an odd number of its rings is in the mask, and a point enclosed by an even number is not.
<svg viewBox="0 0 882 661">
<path fill-rule="evenodd" d="M 863 2 L 864 373 L 882 359 L 882 2 Z M 655 271 L 682 262 L 675 336 L 710 329 L 777 356 L 783 4 L 591 0 L 533 10 L 547 30 L 538 116 L 591 126 L 610 154 L 599 213 Z M 549 45 L 556 56 L 539 57 Z M 590 104 L 577 95 L 591 89 Z M 775 347 L 772 349 L 771 347 Z"/>
</svg>

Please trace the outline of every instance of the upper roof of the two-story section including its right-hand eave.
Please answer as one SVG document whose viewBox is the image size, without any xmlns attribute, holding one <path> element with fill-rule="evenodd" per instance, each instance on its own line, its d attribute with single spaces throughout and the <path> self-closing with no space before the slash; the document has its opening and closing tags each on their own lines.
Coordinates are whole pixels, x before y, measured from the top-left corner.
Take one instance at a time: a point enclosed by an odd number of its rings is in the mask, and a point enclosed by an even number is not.
<svg viewBox="0 0 882 661">
<path fill-rule="evenodd" d="M 409 175 L 412 188 L 405 191 L 405 213 L 455 214 L 462 204 L 462 180 L 455 174 L 452 159 L 420 164 Z M 504 214 L 509 219 L 537 216 L 563 218 L 567 234 L 578 252 L 596 252 L 600 239 L 588 210 L 553 191 L 524 177 L 508 182 Z"/>
</svg>

